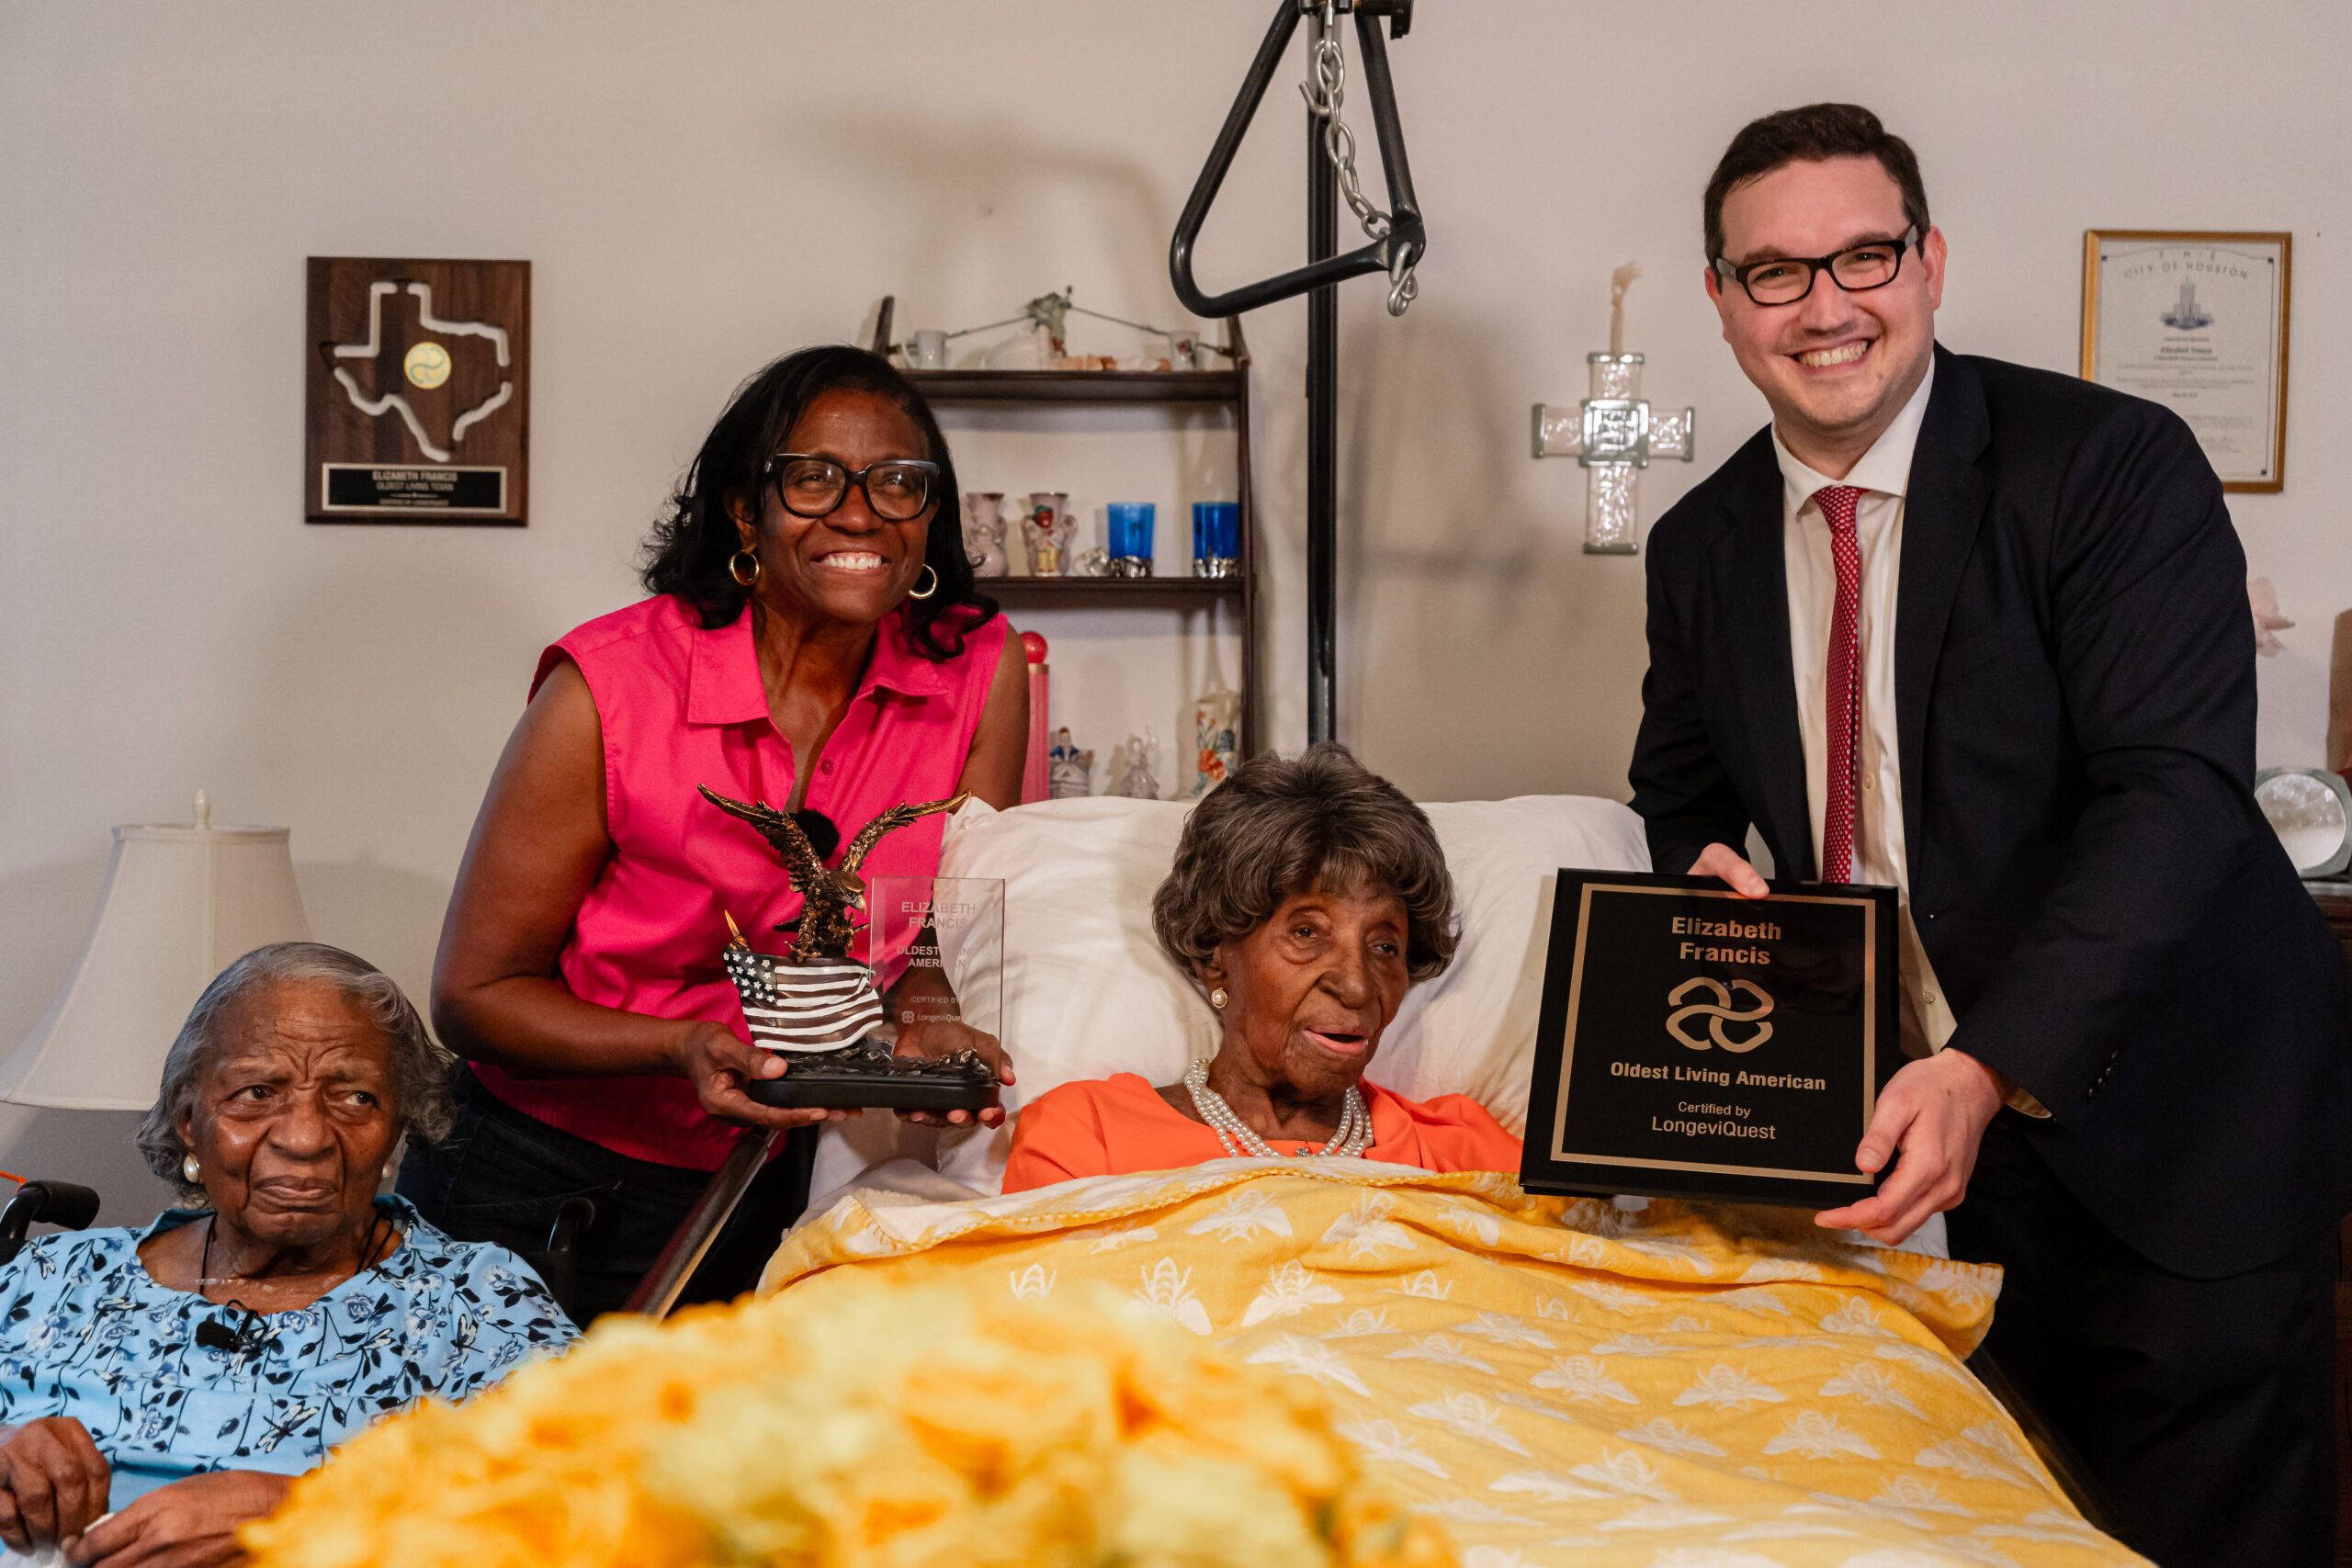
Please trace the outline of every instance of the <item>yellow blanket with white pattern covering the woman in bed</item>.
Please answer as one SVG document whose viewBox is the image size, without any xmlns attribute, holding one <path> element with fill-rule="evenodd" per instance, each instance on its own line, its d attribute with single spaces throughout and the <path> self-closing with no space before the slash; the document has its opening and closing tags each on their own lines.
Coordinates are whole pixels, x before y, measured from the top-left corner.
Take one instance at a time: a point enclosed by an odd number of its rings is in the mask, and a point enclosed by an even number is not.
<svg viewBox="0 0 2352 1568">
<path fill-rule="evenodd" d="M 2143 1561 L 1959 1363 L 1999 1269 L 1804 1215 L 1529 1197 L 1503 1175 L 1211 1161 L 964 1204 L 851 1194 L 762 1288 L 1105 1286 L 1315 1385 L 1465 1568 Z"/>
</svg>

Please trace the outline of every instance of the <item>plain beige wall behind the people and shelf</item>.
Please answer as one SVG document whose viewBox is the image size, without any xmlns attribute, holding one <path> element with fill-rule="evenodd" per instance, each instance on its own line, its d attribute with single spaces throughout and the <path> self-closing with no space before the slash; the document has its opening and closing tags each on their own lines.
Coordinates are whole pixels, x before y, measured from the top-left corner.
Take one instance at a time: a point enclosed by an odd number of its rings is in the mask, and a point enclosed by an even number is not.
<svg viewBox="0 0 2352 1568">
<path fill-rule="evenodd" d="M 0 1048 L 73 954 L 108 823 L 183 818 L 200 785 L 292 823 L 318 933 L 421 987 L 534 654 L 633 595 L 731 383 L 887 292 L 901 322 L 1061 284 L 1176 317 L 1169 228 L 1270 9 L 0 2 Z M 2352 604 L 2347 16 L 1423 0 L 1392 52 L 1421 303 L 1343 303 L 1345 738 L 1423 797 L 1623 792 L 1642 567 L 1578 552 L 1583 477 L 1529 461 L 1526 407 L 1581 393 L 1609 268 L 1639 259 L 1628 346 L 1700 430 L 1644 512 L 1762 423 L 1698 292 L 1698 186 L 1750 115 L 1853 96 L 1919 148 L 1962 350 L 2070 369 L 2086 226 L 2296 233 L 2288 491 L 2232 512 L 2303 623 L 2263 668 L 2263 759 L 2317 762 Z M 1352 118 L 1369 146 L 1362 92 Z M 1211 287 L 1298 256 L 1298 143 L 1282 82 Z M 308 254 L 532 259 L 527 531 L 301 524 Z M 1249 331 L 1263 693 L 1294 745 L 1303 308 Z M 7 1110 L 0 1164 L 89 1166 L 127 1218 L 160 1192 L 122 1126 Z"/>
</svg>

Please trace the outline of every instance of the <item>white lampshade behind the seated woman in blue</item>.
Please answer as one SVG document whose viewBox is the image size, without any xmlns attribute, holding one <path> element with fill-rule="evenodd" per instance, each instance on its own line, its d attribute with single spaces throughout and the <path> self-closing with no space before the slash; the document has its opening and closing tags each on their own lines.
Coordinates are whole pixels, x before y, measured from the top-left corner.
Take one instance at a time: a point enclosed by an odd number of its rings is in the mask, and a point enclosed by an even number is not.
<svg viewBox="0 0 2352 1568">
<path fill-rule="evenodd" d="M 7 1067 L 0 1100 L 146 1110 L 162 1058 L 216 973 L 254 947 L 310 940 L 285 827 L 115 827 L 99 914 L 47 1016 Z"/>
</svg>

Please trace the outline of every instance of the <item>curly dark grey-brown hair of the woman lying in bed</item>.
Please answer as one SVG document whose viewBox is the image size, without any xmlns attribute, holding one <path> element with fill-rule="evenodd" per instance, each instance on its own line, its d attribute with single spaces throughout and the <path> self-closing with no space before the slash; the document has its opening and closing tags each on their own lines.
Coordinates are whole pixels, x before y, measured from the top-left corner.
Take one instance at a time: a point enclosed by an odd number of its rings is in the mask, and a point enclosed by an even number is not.
<svg viewBox="0 0 2352 1568">
<path fill-rule="evenodd" d="M 1444 973 L 1461 926 L 1437 830 L 1404 790 L 1338 741 L 1251 757 L 1185 818 L 1176 863 L 1152 893 L 1152 933 L 1200 980 L 1221 943 L 1315 886 L 1388 886 L 1404 900 L 1404 969 Z"/>
</svg>

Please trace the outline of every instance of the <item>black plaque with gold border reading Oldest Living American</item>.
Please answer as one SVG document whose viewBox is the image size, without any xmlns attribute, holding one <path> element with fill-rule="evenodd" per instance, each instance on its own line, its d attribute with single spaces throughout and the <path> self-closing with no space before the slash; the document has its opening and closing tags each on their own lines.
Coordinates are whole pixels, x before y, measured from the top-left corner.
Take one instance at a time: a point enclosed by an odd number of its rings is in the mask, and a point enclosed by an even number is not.
<svg viewBox="0 0 2352 1568">
<path fill-rule="evenodd" d="M 1519 1178 L 1837 1208 L 1903 1063 L 1896 889 L 1562 870 Z"/>
</svg>

